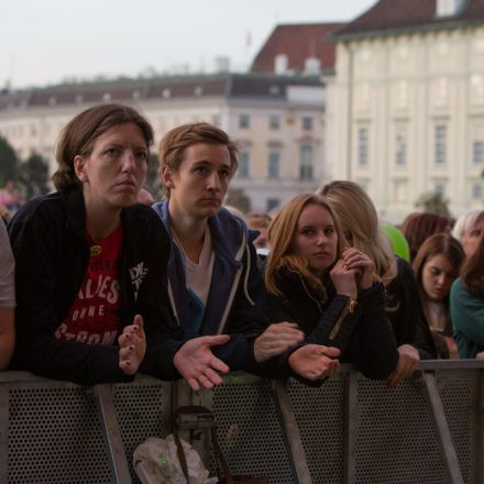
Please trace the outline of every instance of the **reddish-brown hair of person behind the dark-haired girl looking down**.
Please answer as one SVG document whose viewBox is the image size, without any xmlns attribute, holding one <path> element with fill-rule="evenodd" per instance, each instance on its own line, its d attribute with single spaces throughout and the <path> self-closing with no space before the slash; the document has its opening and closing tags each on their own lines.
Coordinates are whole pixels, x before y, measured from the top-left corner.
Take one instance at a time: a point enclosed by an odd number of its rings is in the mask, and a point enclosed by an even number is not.
<svg viewBox="0 0 484 484">
<path fill-rule="evenodd" d="M 421 244 L 435 233 L 449 233 L 450 223 L 447 217 L 432 212 L 414 212 L 407 216 L 402 224 L 402 232 L 410 246 L 410 264 Z"/>
</svg>

